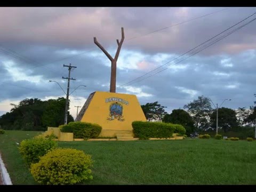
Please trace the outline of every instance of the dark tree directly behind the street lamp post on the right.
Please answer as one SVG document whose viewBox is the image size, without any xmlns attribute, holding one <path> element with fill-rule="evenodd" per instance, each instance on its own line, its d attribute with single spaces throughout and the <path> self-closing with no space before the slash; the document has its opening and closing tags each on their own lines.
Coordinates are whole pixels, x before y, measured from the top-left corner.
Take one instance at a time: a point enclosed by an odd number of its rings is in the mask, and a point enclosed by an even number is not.
<svg viewBox="0 0 256 192">
<path fill-rule="evenodd" d="M 216 110 L 211 114 L 211 125 L 216 128 Z M 233 109 L 221 107 L 218 109 L 218 129 L 222 129 L 225 133 L 234 130 L 238 126 L 236 112 Z"/>
</svg>

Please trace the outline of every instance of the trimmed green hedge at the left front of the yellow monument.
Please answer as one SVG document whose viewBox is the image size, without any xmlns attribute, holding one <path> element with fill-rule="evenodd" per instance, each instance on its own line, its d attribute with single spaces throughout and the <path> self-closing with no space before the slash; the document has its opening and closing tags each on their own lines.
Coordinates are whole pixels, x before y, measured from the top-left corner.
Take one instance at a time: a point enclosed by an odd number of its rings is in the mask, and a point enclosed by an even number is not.
<svg viewBox="0 0 256 192">
<path fill-rule="evenodd" d="M 75 139 L 97 138 L 102 130 L 98 124 L 85 122 L 70 122 L 67 125 L 60 125 L 60 131 L 66 133 L 74 133 Z"/>
</svg>

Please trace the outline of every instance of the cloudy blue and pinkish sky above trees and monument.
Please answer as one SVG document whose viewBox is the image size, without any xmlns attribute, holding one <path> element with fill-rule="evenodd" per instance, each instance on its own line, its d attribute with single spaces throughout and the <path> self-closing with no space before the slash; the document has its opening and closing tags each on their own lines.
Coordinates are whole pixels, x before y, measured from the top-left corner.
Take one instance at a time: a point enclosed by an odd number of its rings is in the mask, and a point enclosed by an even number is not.
<svg viewBox="0 0 256 192">
<path fill-rule="evenodd" d="M 254 12 L 256 7 L 0 7 L 0 115 L 25 98 L 65 97 L 49 80 L 66 91 L 63 64 L 71 63 L 77 68 L 70 91 L 86 85 L 70 95 L 75 118 L 75 106 L 90 93 L 109 91 L 110 61 L 93 37 L 114 57 L 121 27 L 118 93 L 137 95 L 141 105 L 158 101 L 169 113 L 200 95 L 219 105 L 231 99 L 224 107 L 249 108 L 256 93 Z"/>
</svg>

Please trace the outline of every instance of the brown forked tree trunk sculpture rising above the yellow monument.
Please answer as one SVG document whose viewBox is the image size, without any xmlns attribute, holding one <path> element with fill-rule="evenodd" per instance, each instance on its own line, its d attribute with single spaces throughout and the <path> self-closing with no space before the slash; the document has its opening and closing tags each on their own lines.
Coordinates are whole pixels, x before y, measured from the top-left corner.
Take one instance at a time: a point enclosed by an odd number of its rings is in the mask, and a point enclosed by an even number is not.
<svg viewBox="0 0 256 192">
<path fill-rule="evenodd" d="M 116 55 L 115 58 L 113 59 L 111 55 L 104 49 L 104 47 L 97 41 L 96 37 L 94 37 L 94 43 L 103 51 L 108 59 L 111 61 L 111 77 L 110 77 L 110 92 L 115 93 L 116 92 L 116 62 L 122 47 L 122 44 L 124 42 L 124 28 L 121 28 L 122 30 L 122 38 L 121 41 L 119 42 L 118 39 L 116 39 L 117 42 L 117 50 L 116 50 Z"/>
</svg>

